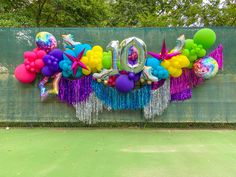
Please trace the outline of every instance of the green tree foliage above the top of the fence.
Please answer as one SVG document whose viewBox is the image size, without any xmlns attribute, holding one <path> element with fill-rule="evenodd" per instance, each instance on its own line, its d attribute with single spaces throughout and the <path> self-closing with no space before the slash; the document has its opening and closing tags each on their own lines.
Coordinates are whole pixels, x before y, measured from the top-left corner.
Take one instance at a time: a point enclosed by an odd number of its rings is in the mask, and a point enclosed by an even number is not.
<svg viewBox="0 0 236 177">
<path fill-rule="evenodd" d="M 0 0 L 0 26 L 236 26 L 236 3 L 235 0 Z"/>
</svg>

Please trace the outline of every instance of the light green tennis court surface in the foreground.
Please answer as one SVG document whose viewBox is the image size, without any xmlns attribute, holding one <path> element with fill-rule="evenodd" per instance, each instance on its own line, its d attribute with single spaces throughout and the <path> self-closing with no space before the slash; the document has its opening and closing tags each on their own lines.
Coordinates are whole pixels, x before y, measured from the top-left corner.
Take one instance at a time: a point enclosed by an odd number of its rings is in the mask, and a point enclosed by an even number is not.
<svg viewBox="0 0 236 177">
<path fill-rule="evenodd" d="M 0 177 L 235 177 L 236 131 L 0 129 Z"/>
</svg>

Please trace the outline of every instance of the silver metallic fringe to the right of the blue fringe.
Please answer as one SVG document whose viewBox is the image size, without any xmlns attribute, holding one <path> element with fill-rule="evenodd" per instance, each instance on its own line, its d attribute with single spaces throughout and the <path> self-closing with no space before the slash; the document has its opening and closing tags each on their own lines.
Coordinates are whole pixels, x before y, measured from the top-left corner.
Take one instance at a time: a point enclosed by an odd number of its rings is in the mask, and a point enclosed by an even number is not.
<svg viewBox="0 0 236 177">
<path fill-rule="evenodd" d="M 166 80 L 164 84 L 156 90 L 151 91 L 151 100 L 144 107 L 145 119 L 153 119 L 161 115 L 168 107 L 170 102 L 170 80 Z"/>
</svg>

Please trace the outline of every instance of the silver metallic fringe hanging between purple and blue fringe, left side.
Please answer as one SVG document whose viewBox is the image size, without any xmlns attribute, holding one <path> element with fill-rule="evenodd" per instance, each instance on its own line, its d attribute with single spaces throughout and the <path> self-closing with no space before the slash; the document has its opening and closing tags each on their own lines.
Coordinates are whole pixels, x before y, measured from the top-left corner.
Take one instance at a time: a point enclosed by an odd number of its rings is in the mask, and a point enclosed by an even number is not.
<svg viewBox="0 0 236 177">
<path fill-rule="evenodd" d="M 98 113 L 102 112 L 102 102 L 92 93 L 85 101 L 73 104 L 76 110 L 76 117 L 87 124 L 96 123 Z"/>
</svg>

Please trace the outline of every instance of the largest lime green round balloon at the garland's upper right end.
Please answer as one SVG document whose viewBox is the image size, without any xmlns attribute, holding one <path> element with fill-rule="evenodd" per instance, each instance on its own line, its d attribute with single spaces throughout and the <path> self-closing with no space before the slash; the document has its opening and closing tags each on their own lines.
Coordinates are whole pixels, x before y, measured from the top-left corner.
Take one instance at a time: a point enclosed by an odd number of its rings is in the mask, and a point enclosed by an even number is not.
<svg viewBox="0 0 236 177">
<path fill-rule="evenodd" d="M 216 33 L 210 28 L 198 30 L 193 37 L 196 44 L 201 44 L 204 49 L 210 48 L 216 41 Z"/>
</svg>

